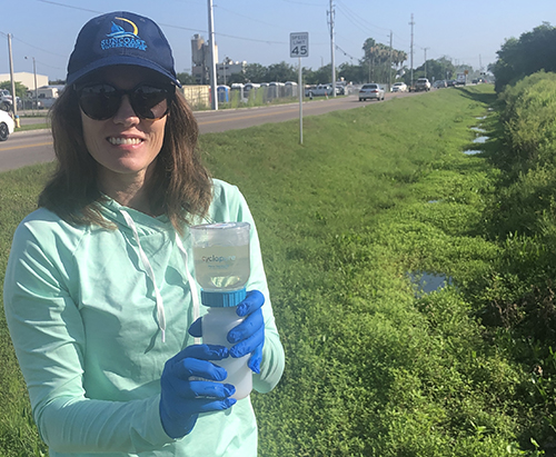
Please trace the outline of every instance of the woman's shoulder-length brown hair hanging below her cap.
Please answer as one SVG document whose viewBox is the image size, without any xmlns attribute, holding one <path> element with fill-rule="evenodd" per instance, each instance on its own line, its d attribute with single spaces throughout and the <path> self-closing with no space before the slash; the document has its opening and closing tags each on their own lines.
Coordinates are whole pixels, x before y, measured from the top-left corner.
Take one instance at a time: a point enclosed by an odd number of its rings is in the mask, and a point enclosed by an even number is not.
<svg viewBox="0 0 556 457">
<path fill-rule="evenodd" d="M 39 206 L 75 225 L 111 227 L 100 213 L 98 163 L 83 139 L 77 92 L 67 87 L 51 110 L 57 169 L 39 196 Z M 189 216 L 206 216 L 212 197 L 208 170 L 197 148 L 199 128 L 179 89 L 170 102 L 165 140 L 149 182 L 150 207 L 182 234 Z"/>
</svg>

